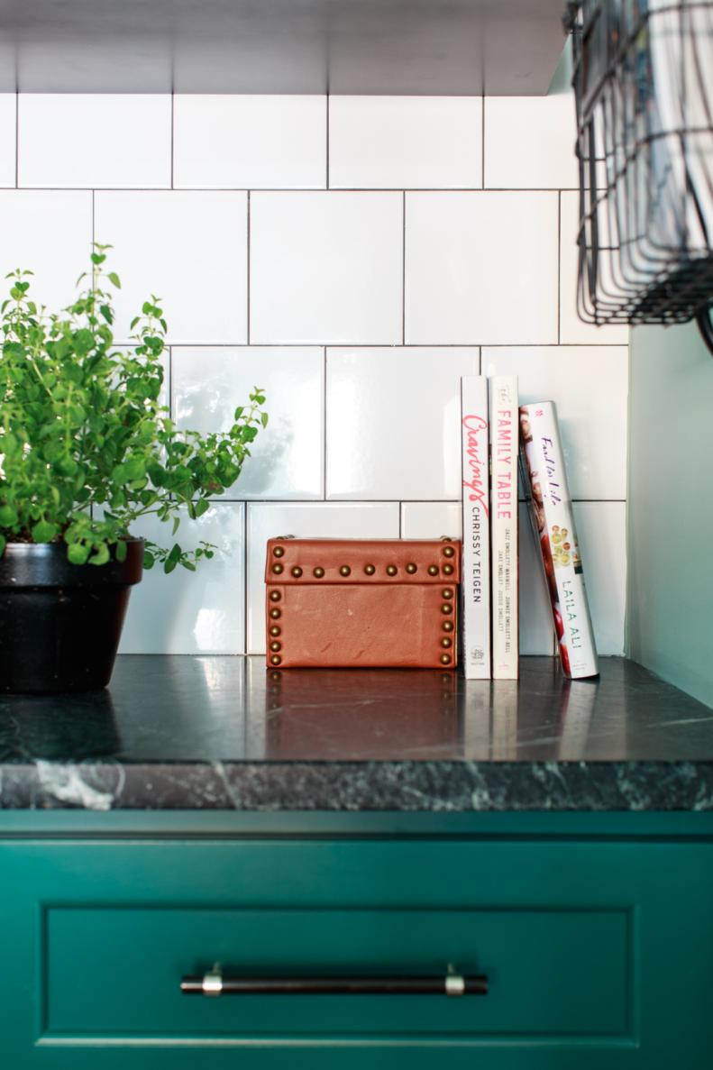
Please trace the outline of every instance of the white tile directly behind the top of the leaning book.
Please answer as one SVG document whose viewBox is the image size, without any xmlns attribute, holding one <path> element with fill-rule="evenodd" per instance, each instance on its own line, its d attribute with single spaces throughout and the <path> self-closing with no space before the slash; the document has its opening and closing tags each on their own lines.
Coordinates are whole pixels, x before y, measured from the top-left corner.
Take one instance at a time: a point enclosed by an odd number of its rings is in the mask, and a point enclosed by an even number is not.
<svg viewBox="0 0 713 1070">
<path fill-rule="evenodd" d="M 555 401 L 573 498 L 626 498 L 626 347 L 484 347 L 483 370 L 516 374 L 521 403 Z"/>
</svg>

